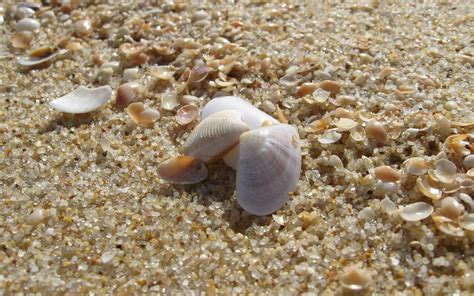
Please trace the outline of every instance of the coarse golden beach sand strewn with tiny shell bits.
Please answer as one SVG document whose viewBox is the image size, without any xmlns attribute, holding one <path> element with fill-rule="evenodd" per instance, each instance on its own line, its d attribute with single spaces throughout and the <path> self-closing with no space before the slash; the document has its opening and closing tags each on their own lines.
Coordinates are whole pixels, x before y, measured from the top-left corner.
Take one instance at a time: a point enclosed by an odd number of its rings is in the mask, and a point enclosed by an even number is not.
<svg viewBox="0 0 474 296">
<path fill-rule="evenodd" d="M 473 292 L 472 1 L 78 2 L 0 8 L 0 294 Z M 68 52 L 19 65 L 43 46 Z M 151 125 L 114 106 L 130 67 Z M 80 85 L 114 93 L 49 106 Z M 222 162 L 195 185 L 158 178 L 197 123 L 173 100 L 225 94 L 298 128 L 301 178 L 274 215 L 240 208 Z"/>
</svg>

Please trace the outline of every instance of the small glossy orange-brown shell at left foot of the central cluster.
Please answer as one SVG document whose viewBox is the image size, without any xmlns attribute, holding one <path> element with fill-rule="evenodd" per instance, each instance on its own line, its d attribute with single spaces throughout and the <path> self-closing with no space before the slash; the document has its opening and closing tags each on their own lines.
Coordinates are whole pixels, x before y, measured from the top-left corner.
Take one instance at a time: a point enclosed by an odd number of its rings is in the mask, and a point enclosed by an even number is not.
<svg viewBox="0 0 474 296">
<path fill-rule="evenodd" d="M 175 184 L 195 184 L 207 178 L 207 168 L 190 156 L 175 156 L 158 165 L 158 176 Z"/>
</svg>

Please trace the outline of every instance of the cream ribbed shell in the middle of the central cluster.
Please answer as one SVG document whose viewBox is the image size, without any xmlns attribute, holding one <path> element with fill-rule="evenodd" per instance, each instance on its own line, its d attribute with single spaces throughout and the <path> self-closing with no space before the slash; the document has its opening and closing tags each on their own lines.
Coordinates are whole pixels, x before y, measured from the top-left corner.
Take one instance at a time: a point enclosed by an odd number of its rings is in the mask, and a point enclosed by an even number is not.
<svg viewBox="0 0 474 296">
<path fill-rule="evenodd" d="M 184 154 L 204 163 L 215 160 L 236 146 L 240 135 L 248 130 L 239 112 L 214 113 L 203 119 L 190 134 L 184 144 Z"/>
</svg>

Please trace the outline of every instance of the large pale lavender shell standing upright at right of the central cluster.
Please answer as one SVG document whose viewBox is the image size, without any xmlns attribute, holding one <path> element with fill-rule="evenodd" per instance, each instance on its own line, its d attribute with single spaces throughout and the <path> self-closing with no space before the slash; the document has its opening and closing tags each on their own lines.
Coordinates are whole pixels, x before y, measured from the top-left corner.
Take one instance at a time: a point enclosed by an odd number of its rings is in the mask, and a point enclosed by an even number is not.
<svg viewBox="0 0 474 296">
<path fill-rule="evenodd" d="M 273 124 L 240 136 L 237 201 L 254 215 L 282 207 L 295 190 L 301 172 L 298 132 L 287 124 Z"/>
</svg>

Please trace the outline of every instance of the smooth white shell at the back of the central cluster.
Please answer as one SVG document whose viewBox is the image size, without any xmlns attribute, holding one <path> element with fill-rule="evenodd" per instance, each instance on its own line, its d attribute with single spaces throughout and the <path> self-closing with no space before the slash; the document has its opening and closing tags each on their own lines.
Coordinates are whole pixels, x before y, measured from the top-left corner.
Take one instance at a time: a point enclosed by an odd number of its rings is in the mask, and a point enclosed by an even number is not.
<svg viewBox="0 0 474 296">
<path fill-rule="evenodd" d="M 245 122 L 245 124 L 247 124 L 250 129 L 259 128 L 265 121 L 270 123 L 278 123 L 275 118 L 255 108 L 252 104 L 250 104 L 250 102 L 233 96 L 224 96 L 212 99 L 202 109 L 201 117 L 204 120 L 210 115 L 222 110 L 235 110 L 240 112 L 242 121 Z"/>
</svg>

